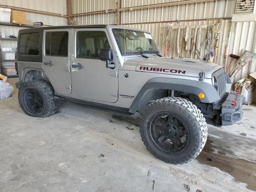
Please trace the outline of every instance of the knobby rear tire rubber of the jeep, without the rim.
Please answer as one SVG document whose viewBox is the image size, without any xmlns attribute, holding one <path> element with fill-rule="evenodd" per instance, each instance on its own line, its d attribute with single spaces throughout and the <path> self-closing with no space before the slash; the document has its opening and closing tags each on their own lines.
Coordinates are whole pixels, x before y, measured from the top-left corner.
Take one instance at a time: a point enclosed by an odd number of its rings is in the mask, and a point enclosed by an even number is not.
<svg viewBox="0 0 256 192">
<path fill-rule="evenodd" d="M 25 104 L 24 92 L 26 90 L 36 90 L 43 99 L 43 110 L 39 113 L 33 113 Z M 52 114 L 56 113 L 58 110 L 58 106 L 54 100 L 54 89 L 52 85 L 45 80 L 34 80 L 28 81 L 21 84 L 19 92 L 18 92 L 18 100 L 20 103 L 20 107 L 22 110 L 29 116 L 33 117 L 48 117 Z"/>
</svg>

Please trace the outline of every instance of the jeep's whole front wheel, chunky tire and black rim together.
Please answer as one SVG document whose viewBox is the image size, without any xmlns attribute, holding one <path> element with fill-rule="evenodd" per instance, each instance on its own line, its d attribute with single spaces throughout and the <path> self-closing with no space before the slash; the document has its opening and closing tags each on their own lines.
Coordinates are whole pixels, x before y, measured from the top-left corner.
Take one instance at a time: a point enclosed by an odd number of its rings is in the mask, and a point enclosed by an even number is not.
<svg viewBox="0 0 256 192">
<path fill-rule="evenodd" d="M 160 160 L 184 164 L 196 158 L 206 143 L 207 124 L 188 100 L 167 97 L 146 107 L 140 120 L 146 148 Z"/>
</svg>

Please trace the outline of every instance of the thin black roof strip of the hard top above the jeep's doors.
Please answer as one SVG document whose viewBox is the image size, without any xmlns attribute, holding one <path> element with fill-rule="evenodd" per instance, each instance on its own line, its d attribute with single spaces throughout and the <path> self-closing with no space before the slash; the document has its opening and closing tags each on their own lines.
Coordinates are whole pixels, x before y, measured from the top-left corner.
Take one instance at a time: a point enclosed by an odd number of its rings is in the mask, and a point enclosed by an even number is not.
<svg viewBox="0 0 256 192">
<path fill-rule="evenodd" d="M 22 29 L 20 32 L 28 32 L 28 31 L 40 31 L 45 29 L 70 29 L 70 28 L 106 28 L 109 25 L 66 25 L 66 26 L 50 26 L 50 27 L 35 27 L 29 29 Z"/>
</svg>

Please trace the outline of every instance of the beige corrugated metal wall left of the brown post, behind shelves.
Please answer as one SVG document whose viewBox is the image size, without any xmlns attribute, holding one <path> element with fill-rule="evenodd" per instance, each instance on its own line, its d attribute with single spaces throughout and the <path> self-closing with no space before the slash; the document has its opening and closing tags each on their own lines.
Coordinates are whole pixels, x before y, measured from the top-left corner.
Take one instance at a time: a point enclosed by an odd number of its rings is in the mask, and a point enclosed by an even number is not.
<svg viewBox="0 0 256 192">
<path fill-rule="evenodd" d="M 67 15 L 66 0 L 0 0 L 0 7 L 7 8 L 25 8 L 32 12 L 26 12 L 27 20 L 32 22 L 43 22 L 44 25 L 67 25 L 68 19 L 64 17 Z M 37 11 L 45 12 L 44 14 L 34 13 Z M 48 14 L 49 13 L 49 14 Z M 60 16 L 52 16 L 50 13 L 60 14 Z M 63 16 L 61 16 L 63 15 Z M 6 36 L 18 36 L 18 31 L 24 27 L 4 26 L 0 25 L 0 31 L 4 30 Z M 3 47 L 17 47 L 17 41 L 0 41 L 1 48 Z M 12 65 L 11 62 L 5 62 L 4 65 Z"/>
</svg>

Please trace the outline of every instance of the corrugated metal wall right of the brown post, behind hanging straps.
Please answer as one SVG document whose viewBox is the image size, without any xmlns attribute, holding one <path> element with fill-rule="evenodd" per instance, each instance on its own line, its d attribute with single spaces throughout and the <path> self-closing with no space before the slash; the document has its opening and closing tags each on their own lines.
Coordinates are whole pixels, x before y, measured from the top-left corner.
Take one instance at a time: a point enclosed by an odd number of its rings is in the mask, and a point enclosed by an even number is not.
<svg viewBox="0 0 256 192">
<path fill-rule="evenodd" d="M 252 50 L 256 22 L 232 24 L 231 18 L 235 8 L 236 0 L 72 0 L 73 21 L 80 24 L 119 24 L 148 30 L 154 36 L 161 52 L 166 40 L 167 25 L 172 24 L 177 26 L 176 28 L 188 25 L 196 27 L 220 22 L 216 63 L 223 66 L 230 63 L 230 54 L 240 55 L 244 48 Z M 177 31 L 172 30 L 171 40 L 177 35 Z M 192 33 L 194 31 L 195 29 Z M 205 56 L 206 37 L 207 29 L 202 29 L 202 49 L 198 51 L 201 58 Z M 175 41 L 171 41 L 171 45 L 171 56 L 198 59 L 197 54 L 187 52 L 184 47 L 178 54 Z M 254 72 L 255 68 L 254 61 L 250 72 Z M 248 70 L 249 65 L 236 74 L 234 82 L 247 78 Z"/>
</svg>

